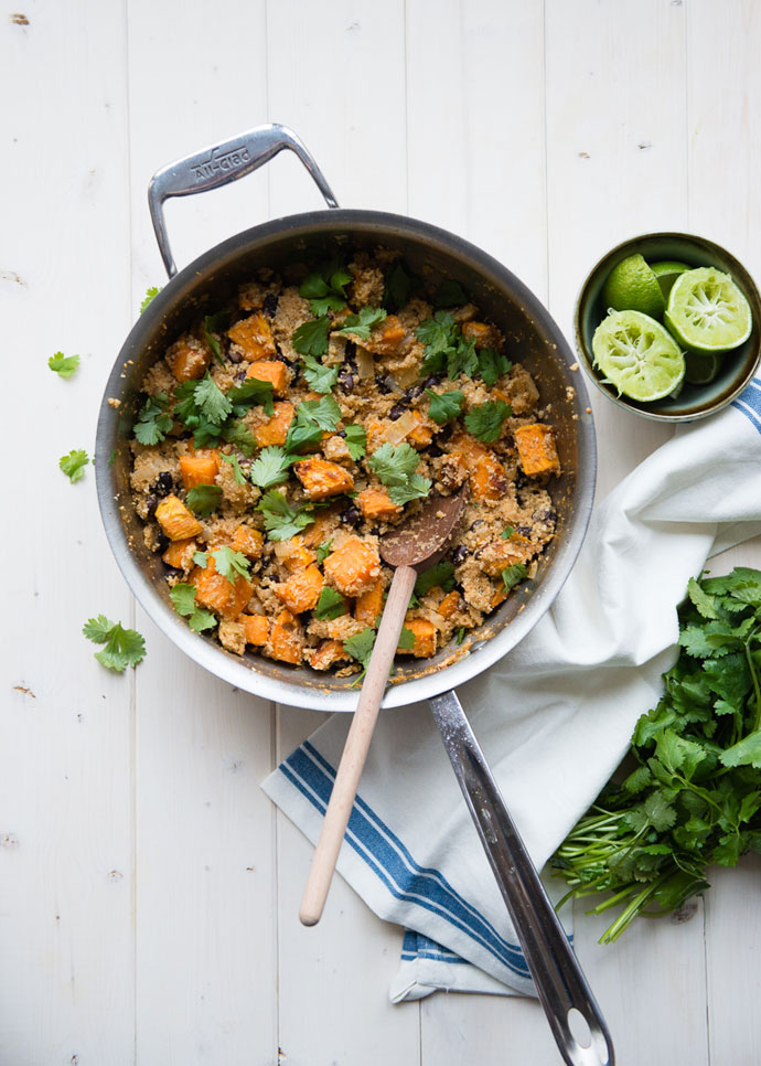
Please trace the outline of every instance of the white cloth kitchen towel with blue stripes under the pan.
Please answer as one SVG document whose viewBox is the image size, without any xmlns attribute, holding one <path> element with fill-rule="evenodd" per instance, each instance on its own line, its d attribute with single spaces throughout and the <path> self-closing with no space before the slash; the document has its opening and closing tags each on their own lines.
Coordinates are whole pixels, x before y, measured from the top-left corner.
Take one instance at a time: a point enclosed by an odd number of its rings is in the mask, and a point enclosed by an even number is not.
<svg viewBox="0 0 761 1066">
<path fill-rule="evenodd" d="M 680 428 L 596 505 L 550 610 L 505 659 L 459 690 L 538 867 L 615 769 L 640 714 L 656 703 L 687 582 L 711 555 L 758 533 L 755 380 L 721 414 Z M 311 841 L 347 717 L 334 715 L 262 786 Z M 376 914 L 420 935 L 405 939 L 395 1000 L 435 988 L 532 993 L 427 705 L 380 714 L 337 868 Z"/>
</svg>

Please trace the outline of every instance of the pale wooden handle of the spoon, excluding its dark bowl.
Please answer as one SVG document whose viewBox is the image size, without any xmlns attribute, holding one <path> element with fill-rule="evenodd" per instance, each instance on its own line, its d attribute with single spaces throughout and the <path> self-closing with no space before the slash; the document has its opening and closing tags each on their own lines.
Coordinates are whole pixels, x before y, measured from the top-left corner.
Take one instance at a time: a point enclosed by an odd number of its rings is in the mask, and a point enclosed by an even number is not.
<svg viewBox="0 0 761 1066">
<path fill-rule="evenodd" d="M 317 925 L 322 917 L 417 576 L 417 571 L 411 566 L 399 566 L 394 572 L 373 655 L 346 737 L 301 899 L 299 918 L 306 926 Z"/>
</svg>

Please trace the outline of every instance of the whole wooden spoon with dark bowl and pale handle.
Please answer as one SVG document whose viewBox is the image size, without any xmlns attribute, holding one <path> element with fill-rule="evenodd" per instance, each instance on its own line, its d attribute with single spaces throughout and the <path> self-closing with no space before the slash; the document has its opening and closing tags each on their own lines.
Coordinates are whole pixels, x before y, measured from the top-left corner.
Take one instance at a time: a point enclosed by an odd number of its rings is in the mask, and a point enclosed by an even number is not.
<svg viewBox="0 0 761 1066">
<path fill-rule="evenodd" d="M 450 539 L 462 516 L 465 500 L 467 489 L 461 489 L 454 495 L 432 497 L 416 518 L 380 539 L 380 555 L 389 566 L 395 567 L 394 579 L 388 590 L 373 654 L 335 775 L 333 791 L 301 899 L 299 917 L 306 926 L 317 925 L 322 917 L 380 701 L 386 690 L 405 615 L 418 576 L 416 567 L 422 567 L 424 564 L 426 568 L 432 566 L 447 552 Z"/>
</svg>

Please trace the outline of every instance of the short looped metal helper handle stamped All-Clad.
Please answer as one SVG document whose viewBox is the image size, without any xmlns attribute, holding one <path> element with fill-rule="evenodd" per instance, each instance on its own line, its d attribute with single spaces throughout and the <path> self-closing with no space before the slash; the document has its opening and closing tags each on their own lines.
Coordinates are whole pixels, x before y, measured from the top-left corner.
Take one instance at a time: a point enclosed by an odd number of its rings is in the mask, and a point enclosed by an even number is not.
<svg viewBox="0 0 761 1066">
<path fill-rule="evenodd" d="M 318 189 L 325 198 L 329 207 L 337 207 L 337 201 L 325 181 L 322 171 L 307 151 L 304 143 L 292 129 L 277 122 L 255 126 L 237 137 L 210 145 L 192 156 L 178 159 L 162 167 L 151 178 L 148 186 L 148 205 L 151 212 L 156 239 L 159 242 L 161 258 L 164 260 L 170 278 L 176 274 L 174 258 L 169 246 L 169 235 L 164 222 L 163 203 L 170 196 L 191 196 L 196 192 L 208 192 L 231 181 L 237 181 L 253 170 L 258 170 L 274 156 L 290 149 L 299 157 L 314 179 Z"/>
</svg>

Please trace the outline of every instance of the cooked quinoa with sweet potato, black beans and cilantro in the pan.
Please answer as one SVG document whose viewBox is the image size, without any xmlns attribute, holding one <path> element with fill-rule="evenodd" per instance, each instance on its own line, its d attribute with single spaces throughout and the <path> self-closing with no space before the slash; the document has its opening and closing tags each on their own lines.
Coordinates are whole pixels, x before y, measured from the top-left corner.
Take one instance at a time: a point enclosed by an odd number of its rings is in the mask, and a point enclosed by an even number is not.
<svg viewBox="0 0 761 1066">
<path fill-rule="evenodd" d="M 379 537 L 468 483 L 421 575 L 399 654 L 460 642 L 555 531 L 559 473 L 539 393 L 453 283 L 390 253 L 260 271 L 178 337 L 142 382 L 130 477 L 175 608 L 243 655 L 361 669 L 392 569 Z"/>
</svg>

